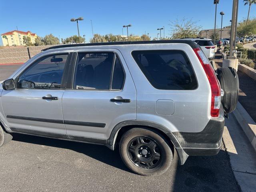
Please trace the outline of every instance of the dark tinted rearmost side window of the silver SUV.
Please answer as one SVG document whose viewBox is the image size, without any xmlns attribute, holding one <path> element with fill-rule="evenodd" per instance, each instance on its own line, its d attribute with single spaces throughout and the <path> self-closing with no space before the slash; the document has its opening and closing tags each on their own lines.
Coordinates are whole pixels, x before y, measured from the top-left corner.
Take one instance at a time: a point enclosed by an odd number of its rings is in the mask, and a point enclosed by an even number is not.
<svg viewBox="0 0 256 192">
<path fill-rule="evenodd" d="M 133 51 L 132 56 L 150 84 L 162 90 L 194 90 L 197 81 L 186 54 L 181 50 Z"/>
</svg>

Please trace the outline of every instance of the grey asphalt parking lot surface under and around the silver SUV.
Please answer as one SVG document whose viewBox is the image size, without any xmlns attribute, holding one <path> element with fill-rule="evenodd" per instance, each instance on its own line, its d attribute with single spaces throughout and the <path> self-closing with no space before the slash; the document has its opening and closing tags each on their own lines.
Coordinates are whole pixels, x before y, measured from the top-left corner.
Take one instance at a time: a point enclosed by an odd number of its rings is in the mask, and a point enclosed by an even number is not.
<svg viewBox="0 0 256 192">
<path fill-rule="evenodd" d="M 20 65 L 0 66 L 5 80 Z M 13 134 L 0 148 L 0 191 L 240 191 L 224 144 L 216 156 L 190 156 L 157 177 L 136 175 L 118 148 Z"/>
</svg>

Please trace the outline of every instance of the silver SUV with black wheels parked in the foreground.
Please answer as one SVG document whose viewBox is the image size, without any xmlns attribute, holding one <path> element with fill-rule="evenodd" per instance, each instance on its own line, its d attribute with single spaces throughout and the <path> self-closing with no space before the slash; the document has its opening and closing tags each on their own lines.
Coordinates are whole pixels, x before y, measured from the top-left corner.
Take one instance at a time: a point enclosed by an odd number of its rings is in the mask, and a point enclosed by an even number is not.
<svg viewBox="0 0 256 192">
<path fill-rule="evenodd" d="M 220 83 L 190 40 L 54 46 L 0 94 L 0 146 L 13 132 L 119 146 L 126 166 L 145 176 L 165 172 L 174 150 L 180 164 L 220 150 Z"/>
</svg>

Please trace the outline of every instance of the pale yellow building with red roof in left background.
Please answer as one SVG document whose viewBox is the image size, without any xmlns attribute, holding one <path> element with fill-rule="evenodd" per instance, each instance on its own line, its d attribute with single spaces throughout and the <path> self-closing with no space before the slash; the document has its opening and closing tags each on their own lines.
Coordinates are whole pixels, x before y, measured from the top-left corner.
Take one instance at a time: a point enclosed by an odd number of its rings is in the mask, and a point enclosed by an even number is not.
<svg viewBox="0 0 256 192">
<path fill-rule="evenodd" d="M 24 36 L 30 37 L 31 43 L 35 43 L 35 39 L 37 38 L 37 35 L 30 31 L 9 31 L 1 34 L 3 46 L 25 45 L 23 42 Z"/>
</svg>

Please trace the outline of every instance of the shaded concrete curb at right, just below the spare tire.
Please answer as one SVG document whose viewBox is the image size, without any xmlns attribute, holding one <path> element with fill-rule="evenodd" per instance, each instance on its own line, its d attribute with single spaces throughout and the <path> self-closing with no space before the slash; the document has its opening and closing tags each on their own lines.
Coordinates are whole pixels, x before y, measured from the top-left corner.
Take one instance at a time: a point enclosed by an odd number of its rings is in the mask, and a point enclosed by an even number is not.
<svg viewBox="0 0 256 192">
<path fill-rule="evenodd" d="M 256 152 L 256 123 L 240 102 L 237 103 L 236 110 L 234 110 L 233 114 Z"/>
</svg>

